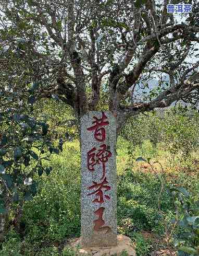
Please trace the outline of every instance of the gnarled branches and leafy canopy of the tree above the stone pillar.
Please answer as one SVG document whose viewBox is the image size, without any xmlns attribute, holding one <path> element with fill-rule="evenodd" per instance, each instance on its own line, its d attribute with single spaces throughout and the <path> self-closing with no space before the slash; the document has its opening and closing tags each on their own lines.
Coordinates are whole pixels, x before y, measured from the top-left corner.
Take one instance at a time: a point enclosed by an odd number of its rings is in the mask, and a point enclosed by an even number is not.
<svg viewBox="0 0 199 256">
<path fill-rule="evenodd" d="M 199 56 L 196 2 L 3 1 L 0 86 L 24 91 L 34 84 L 32 102 L 53 97 L 80 118 L 97 109 L 106 85 L 118 129 L 140 112 L 180 99 L 197 103 L 199 61 L 191 62 Z M 179 22 L 167 13 L 167 4 L 192 4 L 192 12 L 181 14 L 186 19 Z M 156 92 L 137 102 L 135 90 L 154 76 Z"/>
</svg>

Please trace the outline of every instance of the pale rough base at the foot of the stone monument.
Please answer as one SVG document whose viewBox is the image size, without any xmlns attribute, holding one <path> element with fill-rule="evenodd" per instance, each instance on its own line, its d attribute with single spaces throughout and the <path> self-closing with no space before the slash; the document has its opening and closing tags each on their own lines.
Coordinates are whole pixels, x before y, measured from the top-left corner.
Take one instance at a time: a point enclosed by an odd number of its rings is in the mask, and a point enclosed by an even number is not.
<svg viewBox="0 0 199 256">
<path fill-rule="evenodd" d="M 90 248 L 81 248 L 81 238 L 71 239 L 69 246 L 73 250 L 77 250 L 76 255 L 121 255 L 123 251 L 126 251 L 129 256 L 135 256 L 135 248 L 131 244 L 131 239 L 124 235 L 117 236 L 118 242 L 117 246 L 113 247 L 90 247 Z M 80 249 L 77 249 L 80 248 Z"/>
</svg>

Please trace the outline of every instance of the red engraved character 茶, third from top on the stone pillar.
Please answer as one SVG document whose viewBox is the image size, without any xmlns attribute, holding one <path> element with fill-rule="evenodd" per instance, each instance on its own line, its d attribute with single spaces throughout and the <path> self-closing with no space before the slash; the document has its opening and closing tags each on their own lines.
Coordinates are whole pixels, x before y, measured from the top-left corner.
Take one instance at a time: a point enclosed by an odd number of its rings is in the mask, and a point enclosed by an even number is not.
<svg viewBox="0 0 199 256">
<path fill-rule="evenodd" d="M 108 181 L 107 181 L 107 179 L 106 179 L 106 177 L 105 177 L 105 179 L 103 180 L 103 182 L 101 182 L 101 183 L 97 183 L 97 182 L 95 182 L 95 181 L 93 181 L 93 185 L 91 185 L 90 187 L 89 187 L 89 189 L 96 189 L 95 191 L 93 191 L 92 193 L 90 193 L 90 194 L 87 194 L 87 195 L 93 195 L 93 194 L 95 194 L 98 198 L 96 198 L 96 199 L 94 199 L 93 200 L 93 203 L 104 203 L 104 197 L 106 198 L 106 199 L 110 199 L 110 196 L 108 196 L 108 195 L 103 195 L 103 190 L 104 191 L 108 191 L 108 190 L 110 190 L 110 186 L 109 185 L 107 185 L 108 184 Z"/>
</svg>

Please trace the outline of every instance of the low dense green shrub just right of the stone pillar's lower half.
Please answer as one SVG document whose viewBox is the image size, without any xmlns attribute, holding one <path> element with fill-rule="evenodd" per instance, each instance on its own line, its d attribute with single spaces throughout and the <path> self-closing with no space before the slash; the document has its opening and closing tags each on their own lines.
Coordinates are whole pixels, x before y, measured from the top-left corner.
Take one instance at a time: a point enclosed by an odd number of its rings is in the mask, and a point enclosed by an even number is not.
<svg viewBox="0 0 199 256">
<path fill-rule="evenodd" d="M 123 234 L 129 234 L 134 230 L 157 231 L 162 234 L 161 219 L 157 208 L 160 183 L 151 173 L 132 172 L 127 169 L 123 176 L 118 177 L 118 226 Z M 168 193 L 164 192 L 161 199 L 161 208 L 170 216 L 172 202 Z M 124 217 L 125 216 L 125 217 Z M 131 224 L 126 225 L 129 219 Z M 122 228 L 123 227 L 123 228 Z"/>
</svg>

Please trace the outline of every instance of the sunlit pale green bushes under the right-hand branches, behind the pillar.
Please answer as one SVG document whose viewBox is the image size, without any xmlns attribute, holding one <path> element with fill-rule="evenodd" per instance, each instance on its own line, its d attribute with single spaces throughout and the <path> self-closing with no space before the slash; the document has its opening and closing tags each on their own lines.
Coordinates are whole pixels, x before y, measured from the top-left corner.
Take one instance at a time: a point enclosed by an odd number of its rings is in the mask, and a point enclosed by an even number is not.
<svg viewBox="0 0 199 256">
<path fill-rule="evenodd" d="M 175 158 L 182 161 L 198 148 L 198 119 L 197 112 L 181 106 L 161 114 L 153 111 L 130 118 L 122 127 L 120 135 L 129 141 L 132 150 L 140 148 L 143 156 L 147 152 L 148 157 L 153 157 L 155 147 L 161 143 L 164 150 L 170 153 L 171 161 Z"/>
</svg>

